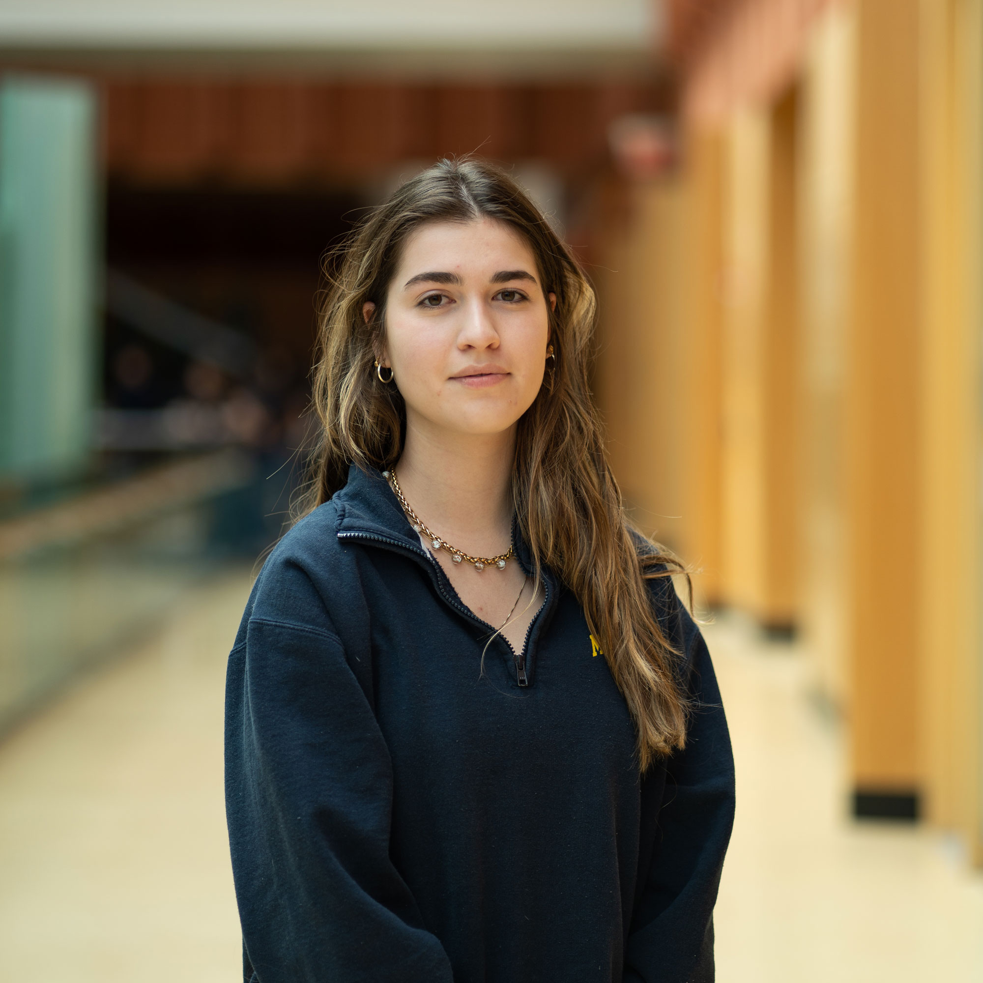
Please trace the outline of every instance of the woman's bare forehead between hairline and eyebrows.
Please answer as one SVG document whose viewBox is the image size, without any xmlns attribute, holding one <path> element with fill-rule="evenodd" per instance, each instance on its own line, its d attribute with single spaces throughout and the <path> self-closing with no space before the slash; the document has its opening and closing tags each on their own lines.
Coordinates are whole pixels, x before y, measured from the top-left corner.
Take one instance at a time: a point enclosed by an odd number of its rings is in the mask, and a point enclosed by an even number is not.
<svg viewBox="0 0 983 983">
<path fill-rule="evenodd" d="M 423 270 L 494 273 L 527 269 L 537 273 L 536 258 L 525 238 L 512 226 L 492 218 L 473 222 L 427 222 L 407 238 L 398 276 Z"/>
</svg>

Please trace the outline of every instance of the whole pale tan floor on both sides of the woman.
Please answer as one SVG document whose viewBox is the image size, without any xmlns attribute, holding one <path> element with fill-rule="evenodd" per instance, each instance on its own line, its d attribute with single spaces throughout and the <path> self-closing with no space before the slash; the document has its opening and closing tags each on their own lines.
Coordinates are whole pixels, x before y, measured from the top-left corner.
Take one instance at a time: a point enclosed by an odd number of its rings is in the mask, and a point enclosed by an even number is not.
<svg viewBox="0 0 983 983">
<path fill-rule="evenodd" d="M 221 787 L 229 575 L 0 744 L 0 981 L 234 983 Z M 739 621 L 707 629 L 739 769 L 717 911 L 722 983 L 983 983 L 983 880 L 952 844 L 840 808 L 808 671 Z"/>
</svg>

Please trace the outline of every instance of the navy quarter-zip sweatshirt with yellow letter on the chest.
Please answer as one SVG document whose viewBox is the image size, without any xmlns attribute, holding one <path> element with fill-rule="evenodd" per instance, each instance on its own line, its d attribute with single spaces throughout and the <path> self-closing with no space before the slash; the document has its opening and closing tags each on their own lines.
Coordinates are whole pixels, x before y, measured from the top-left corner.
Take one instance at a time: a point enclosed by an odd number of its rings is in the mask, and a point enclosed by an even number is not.
<svg viewBox="0 0 983 983">
<path fill-rule="evenodd" d="M 273 550 L 226 694 L 246 981 L 714 979 L 734 786 L 706 645 L 653 581 L 694 711 L 641 777 L 582 608 L 545 588 L 524 651 L 486 651 L 491 627 L 354 467 Z"/>
</svg>

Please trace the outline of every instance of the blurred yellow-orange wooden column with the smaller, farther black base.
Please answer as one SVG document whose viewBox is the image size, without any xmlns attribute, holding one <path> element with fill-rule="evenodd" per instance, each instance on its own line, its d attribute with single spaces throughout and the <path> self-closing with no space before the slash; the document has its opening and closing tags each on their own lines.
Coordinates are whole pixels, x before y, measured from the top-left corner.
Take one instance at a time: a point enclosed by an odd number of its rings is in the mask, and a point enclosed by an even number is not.
<svg viewBox="0 0 983 983">
<path fill-rule="evenodd" d="M 729 128 L 723 317 L 723 597 L 772 631 L 798 616 L 795 88 Z"/>
</svg>

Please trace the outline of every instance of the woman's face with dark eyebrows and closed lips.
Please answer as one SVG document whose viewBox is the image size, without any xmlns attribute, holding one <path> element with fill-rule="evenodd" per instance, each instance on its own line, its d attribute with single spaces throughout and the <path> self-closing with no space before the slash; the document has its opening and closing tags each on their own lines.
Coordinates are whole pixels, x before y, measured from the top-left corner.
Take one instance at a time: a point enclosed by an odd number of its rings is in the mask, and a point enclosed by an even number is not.
<svg viewBox="0 0 983 983">
<path fill-rule="evenodd" d="M 547 305 L 532 251 L 484 218 L 432 222 L 407 240 L 386 295 L 384 348 L 407 427 L 500 434 L 543 384 Z M 367 304 L 365 317 L 374 305 Z"/>
</svg>

